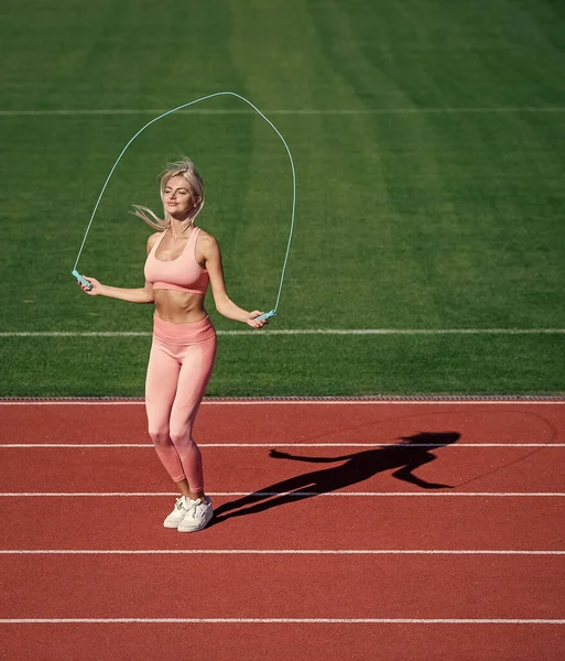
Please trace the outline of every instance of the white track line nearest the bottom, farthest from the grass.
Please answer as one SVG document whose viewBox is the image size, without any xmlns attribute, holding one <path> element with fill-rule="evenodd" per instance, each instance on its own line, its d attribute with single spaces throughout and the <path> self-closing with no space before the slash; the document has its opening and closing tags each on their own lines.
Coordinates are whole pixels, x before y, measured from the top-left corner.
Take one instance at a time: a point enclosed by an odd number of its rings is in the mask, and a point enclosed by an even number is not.
<svg viewBox="0 0 565 661">
<path fill-rule="evenodd" d="M 0 625 L 565 625 L 565 619 L 306 618 L 306 617 L 111 617 L 2 618 Z"/>
</svg>

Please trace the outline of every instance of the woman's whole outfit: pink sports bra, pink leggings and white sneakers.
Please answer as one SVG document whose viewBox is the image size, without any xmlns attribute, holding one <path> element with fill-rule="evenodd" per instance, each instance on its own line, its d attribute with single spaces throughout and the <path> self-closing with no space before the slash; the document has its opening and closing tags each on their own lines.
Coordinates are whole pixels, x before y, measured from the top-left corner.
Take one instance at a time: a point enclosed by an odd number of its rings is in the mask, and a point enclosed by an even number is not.
<svg viewBox="0 0 565 661">
<path fill-rule="evenodd" d="M 199 231 L 199 227 L 193 228 L 182 253 L 172 261 L 156 258 L 164 232 L 159 237 L 144 269 L 145 280 L 153 289 L 206 294 L 209 275 L 196 260 Z M 154 315 L 145 381 L 149 434 L 173 481 L 186 479 L 192 492 L 204 490 L 200 451 L 192 431 L 215 358 L 216 330 L 208 316 L 193 324 L 175 324 Z M 202 517 L 204 510 L 206 513 Z M 184 524 L 187 530 L 204 528 L 211 518 L 209 499 L 192 501 L 182 496 L 164 524 L 166 528 L 176 528 L 172 523 L 178 519 L 178 529 L 183 530 L 181 524 L 184 518 L 205 521 L 198 528 Z"/>
</svg>

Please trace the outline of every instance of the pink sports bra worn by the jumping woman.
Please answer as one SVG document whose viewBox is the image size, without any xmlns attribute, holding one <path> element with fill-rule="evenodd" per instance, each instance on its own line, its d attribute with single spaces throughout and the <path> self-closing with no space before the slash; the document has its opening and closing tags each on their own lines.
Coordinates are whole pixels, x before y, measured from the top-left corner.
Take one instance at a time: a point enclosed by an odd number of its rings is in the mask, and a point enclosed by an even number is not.
<svg viewBox="0 0 565 661">
<path fill-rule="evenodd" d="M 208 271 L 196 261 L 196 239 L 199 231 L 199 227 L 192 230 L 183 251 L 172 261 L 162 261 L 155 257 L 165 232 L 159 237 L 148 254 L 144 269 L 145 280 L 153 285 L 153 289 L 206 294 L 210 278 Z"/>
</svg>

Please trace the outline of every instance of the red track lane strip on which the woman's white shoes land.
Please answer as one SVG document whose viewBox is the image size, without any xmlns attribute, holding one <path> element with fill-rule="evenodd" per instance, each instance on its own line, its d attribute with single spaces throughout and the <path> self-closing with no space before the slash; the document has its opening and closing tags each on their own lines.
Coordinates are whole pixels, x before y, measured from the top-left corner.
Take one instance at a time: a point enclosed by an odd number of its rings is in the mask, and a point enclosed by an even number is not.
<svg viewBox="0 0 565 661">
<path fill-rule="evenodd" d="M 213 499 L 216 508 L 233 500 Z M 30 525 L 40 502 L 41 516 Z M 0 498 L 9 531 L 0 546 L 565 551 L 564 503 L 557 498 L 316 497 L 225 519 L 198 535 L 161 525 L 173 503 L 173 497 Z"/>
</svg>

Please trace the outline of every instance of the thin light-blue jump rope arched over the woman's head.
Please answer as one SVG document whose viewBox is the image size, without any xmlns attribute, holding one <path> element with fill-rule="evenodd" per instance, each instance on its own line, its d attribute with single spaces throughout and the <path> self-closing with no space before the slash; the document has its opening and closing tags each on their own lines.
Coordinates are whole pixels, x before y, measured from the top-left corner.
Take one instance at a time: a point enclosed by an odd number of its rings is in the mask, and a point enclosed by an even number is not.
<svg viewBox="0 0 565 661">
<path fill-rule="evenodd" d="M 274 132 L 279 136 L 279 138 L 282 140 L 285 149 L 286 149 L 286 153 L 289 154 L 289 160 L 291 162 L 291 170 L 292 170 L 292 212 L 291 212 L 291 229 L 289 232 L 289 241 L 286 245 L 286 253 L 284 256 L 284 262 L 283 262 L 283 268 L 282 268 L 282 272 L 281 272 L 281 281 L 279 284 L 279 293 L 276 294 L 276 302 L 274 304 L 274 307 L 270 311 L 270 312 L 265 312 L 264 314 L 256 317 L 258 321 L 264 321 L 264 319 L 269 319 L 270 317 L 274 316 L 276 314 L 276 311 L 279 308 L 279 301 L 281 300 L 281 292 L 282 292 L 282 285 L 283 285 L 283 281 L 284 281 L 284 273 L 286 271 L 286 262 L 289 261 L 289 253 L 291 251 L 291 241 L 292 241 L 292 235 L 294 231 L 294 216 L 295 216 L 295 209 L 296 209 L 296 172 L 294 170 L 294 161 L 292 159 L 292 154 L 291 154 L 291 150 L 289 149 L 289 145 L 286 144 L 286 140 L 284 140 L 284 138 L 282 137 L 281 132 L 279 131 L 279 129 L 273 124 L 273 122 L 268 119 L 262 112 L 261 110 L 259 110 L 259 108 L 257 108 L 256 106 L 253 106 L 253 104 L 246 99 L 245 97 L 240 96 L 239 94 L 236 94 L 235 91 L 217 91 L 215 94 L 209 94 L 205 97 L 200 97 L 199 99 L 195 99 L 194 101 L 189 101 L 188 104 L 183 104 L 182 106 L 177 106 L 176 108 L 173 108 L 172 110 L 167 110 L 166 112 L 163 112 L 162 115 L 160 115 L 159 117 L 155 117 L 154 119 L 152 119 L 151 121 L 148 121 L 148 123 L 142 127 L 134 136 L 133 138 L 131 138 L 129 140 L 129 142 L 126 144 L 126 147 L 122 149 L 120 155 L 116 159 L 116 163 L 113 164 L 112 169 L 110 170 L 110 174 L 108 175 L 102 189 L 100 191 L 100 195 L 98 196 L 98 199 L 96 201 L 95 207 L 93 209 L 93 214 L 90 215 L 90 220 L 88 221 L 88 226 L 86 228 L 86 232 L 85 236 L 83 238 L 83 242 L 80 245 L 80 249 L 78 250 L 78 254 L 75 261 L 75 266 L 73 268 L 73 275 L 78 280 L 78 282 L 83 285 L 86 285 L 88 289 L 93 288 L 93 284 L 86 280 L 86 278 L 84 278 L 83 275 L 80 275 L 80 273 L 77 270 L 78 267 L 78 260 L 80 259 L 80 256 L 83 253 L 83 249 L 85 247 L 86 243 L 86 239 L 88 237 L 88 232 L 90 231 L 90 226 L 93 225 L 93 221 L 95 219 L 96 216 L 96 212 L 98 209 L 98 206 L 100 205 L 100 201 L 102 199 L 104 193 L 106 191 L 106 187 L 108 186 L 108 183 L 113 174 L 113 171 L 116 170 L 116 167 L 118 166 L 118 163 L 121 161 L 121 158 L 123 156 L 123 154 L 126 153 L 126 151 L 128 150 L 128 148 L 130 147 L 130 144 L 135 140 L 135 138 L 142 133 L 148 127 L 150 127 L 152 123 L 155 123 L 155 121 L 159 121 L 160 119 L 163 119 L 163 117 L 166 117 L 167 115 L 172 115 L 173 112 L 176 112 L 177 110 L 182 110 L 183 108 L 187 108 L 188 106 L 193 106 L 194 104 L 198 104 L 199 101 L 205 101 L 206 99 L 211 99 L 213 97 L 217 97 L 217 96 L 233 96 L 237 97 L 238 99 L 241 99 L 242 101 L 245 101 L 246 104 L 248 104 L 249 106 L 251 106 L 251 108 L 253 108 L 253 110 L 256 112 L 258 112 L 265 121 L 274 130 Z"/>
</svg>

